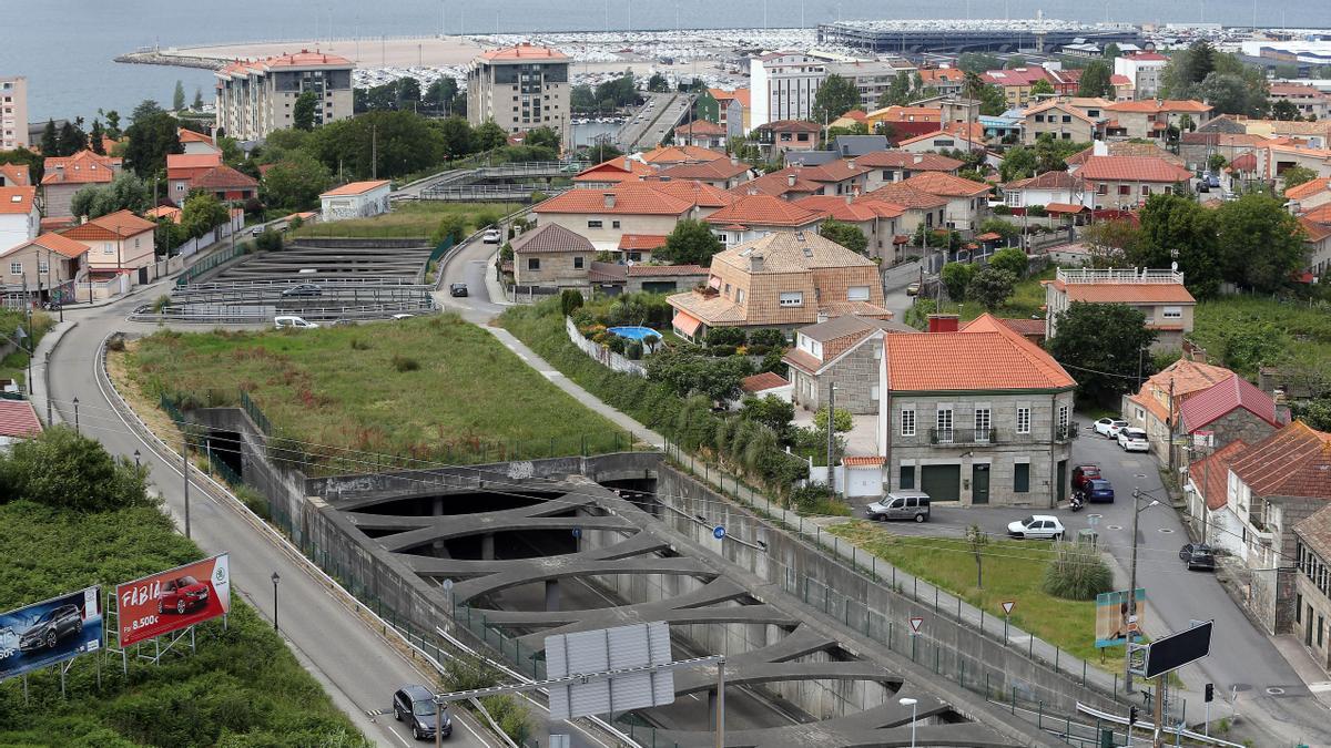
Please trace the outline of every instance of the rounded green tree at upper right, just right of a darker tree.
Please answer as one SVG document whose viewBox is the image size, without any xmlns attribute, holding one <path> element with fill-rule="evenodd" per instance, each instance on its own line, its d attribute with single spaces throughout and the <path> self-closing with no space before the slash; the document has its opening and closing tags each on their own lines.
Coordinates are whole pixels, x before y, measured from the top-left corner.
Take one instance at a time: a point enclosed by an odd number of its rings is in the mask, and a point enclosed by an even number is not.
<svg viewBox="0 0 1331 748">
<path fill-rule="evenodd" d="M 1260 293 L 1286 285 L 1308 260 L 1299 220 L 1264 194 L 1244 194 L 1221 205 L 1215 238 L 1225 280 Z"/>
</svg>

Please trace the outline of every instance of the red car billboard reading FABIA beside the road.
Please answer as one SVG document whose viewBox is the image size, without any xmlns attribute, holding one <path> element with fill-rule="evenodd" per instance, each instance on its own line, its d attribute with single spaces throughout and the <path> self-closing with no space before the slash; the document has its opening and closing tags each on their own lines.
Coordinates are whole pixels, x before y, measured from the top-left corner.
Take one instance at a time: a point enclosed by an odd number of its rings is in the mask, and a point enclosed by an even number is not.
<svg viewBox="0 0 1331 748">
<path fill-rule="evenodd" d="M 229 556 L 221 554 L 116 587 L 121 648 L 232 610 Z"/>
</svg>

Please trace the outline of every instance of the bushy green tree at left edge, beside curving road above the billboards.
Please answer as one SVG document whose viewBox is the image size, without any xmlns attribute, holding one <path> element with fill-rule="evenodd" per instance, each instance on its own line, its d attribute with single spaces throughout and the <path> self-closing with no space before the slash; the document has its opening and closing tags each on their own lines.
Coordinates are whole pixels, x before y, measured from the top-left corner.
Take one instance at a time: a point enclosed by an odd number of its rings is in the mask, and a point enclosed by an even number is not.
<svg viewBox="0 0 1331 748">
<path fill-rule="evenodd" d="M 96 439 L 55 426 L 36 439 L 0 453 L 0 503 L 39 504 L 96 512 L 150 506 L 148 468 L 110 457 Z"/>
</svg>

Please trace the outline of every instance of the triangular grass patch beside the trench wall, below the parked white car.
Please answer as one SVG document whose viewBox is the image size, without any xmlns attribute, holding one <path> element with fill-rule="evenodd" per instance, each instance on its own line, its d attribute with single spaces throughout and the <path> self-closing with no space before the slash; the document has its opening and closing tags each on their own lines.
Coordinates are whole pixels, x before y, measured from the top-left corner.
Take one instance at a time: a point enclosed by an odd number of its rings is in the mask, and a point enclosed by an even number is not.
<svg viewBox="0 0 1331 748">
<path fill-rule="evenodd" d="M 1053 555 L 1044 542 L 993 539 L 984 552 L 984 590 L 976 587 L 976 558 L 960 538 L 893 535 L 882 526 L 853 520 L 828 532 L 840 535 L 893 566 L 949 590 L 989 615 L 1002 618 L 1002 603 L 1014 600 L 1012 623 L 1065 652 L 1117 671 L 1122 647 L 1095 648 L 1095 602 L 1047 595 L 1041 583 Z"/>
</svg>

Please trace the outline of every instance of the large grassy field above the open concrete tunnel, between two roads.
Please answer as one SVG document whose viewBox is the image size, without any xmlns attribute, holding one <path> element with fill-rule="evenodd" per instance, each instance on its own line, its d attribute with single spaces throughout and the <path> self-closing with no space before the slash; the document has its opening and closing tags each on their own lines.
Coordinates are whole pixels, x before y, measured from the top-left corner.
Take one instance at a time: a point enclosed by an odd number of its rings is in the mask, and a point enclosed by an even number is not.
<svg viewBox="0 0 1331 748">
<path fill-rule="evenodd" d="M 294 334 L 162 331 L 114 355 L 128 355 L 128 377 L 152 403 L 165 394 L 234 406 L 248 391 L 280 437 L 307 443 L 317 474 L 365 471 L 374 455 L 478 463 L 628 446 L 627 434 L 453 314 Z"/>
</svg>

